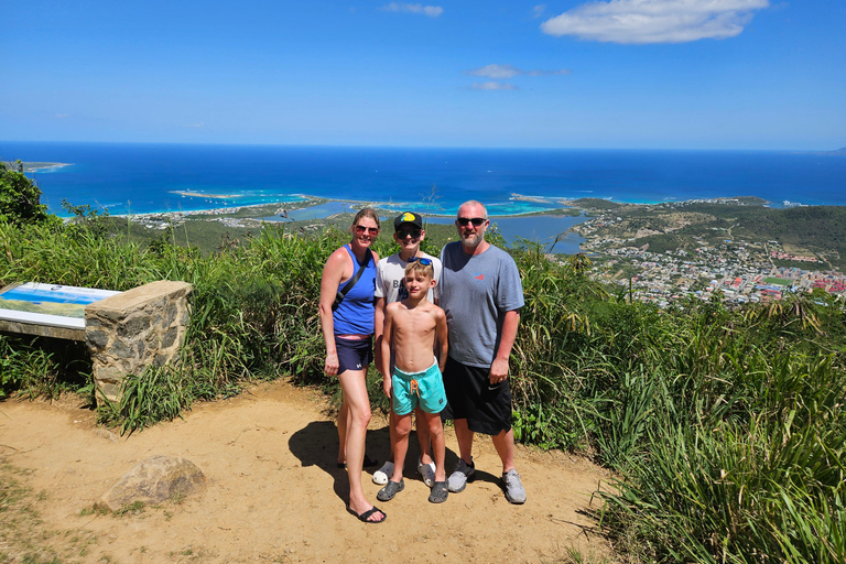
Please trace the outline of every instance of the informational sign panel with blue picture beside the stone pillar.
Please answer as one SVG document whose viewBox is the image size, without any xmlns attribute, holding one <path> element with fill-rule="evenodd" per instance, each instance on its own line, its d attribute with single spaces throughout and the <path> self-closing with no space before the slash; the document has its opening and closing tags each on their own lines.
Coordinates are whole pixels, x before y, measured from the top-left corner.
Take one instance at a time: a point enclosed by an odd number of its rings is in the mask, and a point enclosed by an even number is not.
<svg viewBox="0 0 846 564">
<path fill-rule="evenodd" d="M 0 319 L 83 329 L 85 306 L 119 293 L 26 282 L 0 291 Z"/>
</svg>

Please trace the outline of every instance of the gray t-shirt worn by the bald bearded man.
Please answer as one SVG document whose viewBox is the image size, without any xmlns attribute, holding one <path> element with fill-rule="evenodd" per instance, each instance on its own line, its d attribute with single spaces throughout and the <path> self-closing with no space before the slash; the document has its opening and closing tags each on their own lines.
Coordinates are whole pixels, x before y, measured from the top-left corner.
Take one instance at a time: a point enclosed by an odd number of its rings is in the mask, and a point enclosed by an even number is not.
<svg viewBox="0 0 846 564">
<path fill-rule="evenodd" d="M 523 306 L 514 259 L 492 245 L 470 256 L 457 241 L 444 247 L 441 262 L 441 307 L 449 326 L 449 356 L 463 365 L 490 367 L 506 313 Z"/>
</svg>

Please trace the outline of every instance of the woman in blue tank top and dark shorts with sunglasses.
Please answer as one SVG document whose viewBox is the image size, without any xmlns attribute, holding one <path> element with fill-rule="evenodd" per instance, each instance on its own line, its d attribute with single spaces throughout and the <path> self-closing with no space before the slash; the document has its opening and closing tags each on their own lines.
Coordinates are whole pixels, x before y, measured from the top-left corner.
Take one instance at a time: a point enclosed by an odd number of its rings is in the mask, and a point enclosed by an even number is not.
<svg viewBox="0 0 846 564">
<path fill-rule="evenodd" d="M 367 367 L 372 360 L 373 292 L 379 256 L 370 246 L 379 235 L 379 216 L 370 208 L 359 212 L 350 227 L 352 240 L 335 250 L 321 279 L 321 328 L 326 343 L 328 376 L 340 380 L 343 401 L 338 413 L 338 467 L 349 477 L 349 511 L 369 523 L 381 523 L 386 513 L 372 506 L 361 487 L 365 436 L 370 422 Z M 340 304 L 333 306 L 347 282 L 364 269 Z"/>
</svg>

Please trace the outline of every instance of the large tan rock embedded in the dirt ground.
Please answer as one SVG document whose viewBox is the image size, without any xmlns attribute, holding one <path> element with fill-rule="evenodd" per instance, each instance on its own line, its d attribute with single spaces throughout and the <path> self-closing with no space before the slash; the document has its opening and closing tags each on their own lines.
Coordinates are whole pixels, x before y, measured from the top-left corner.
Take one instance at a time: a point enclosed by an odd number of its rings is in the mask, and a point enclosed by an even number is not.
<svg viewBox="0 0 846 564">
<path fill-rule="evenodd" d="M 161 503 L 177 496 L 188 496 L 205 487 L 206 477 L 186 458 L 153 456 L 142 460 L 123 475 L 94 505 L 95 509 L 118 511 L 141 501 Z"/>
</svg>

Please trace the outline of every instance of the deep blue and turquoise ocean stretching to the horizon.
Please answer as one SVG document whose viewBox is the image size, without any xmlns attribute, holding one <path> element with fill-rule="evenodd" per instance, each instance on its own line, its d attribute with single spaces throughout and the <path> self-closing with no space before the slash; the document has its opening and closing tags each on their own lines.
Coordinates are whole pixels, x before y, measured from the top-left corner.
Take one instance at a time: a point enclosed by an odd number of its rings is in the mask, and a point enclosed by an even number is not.
<svg viewBox="0 0 846 564">
<path fill-rule="evenodd" d="M 59 215 L 65 199 L 117 215 L 285 203 L 304 195 L 445 216 L 467 199 L 484 202 L 491 216 L 549 210 L 561 207 L 557 199 L 582 197 L 660 203 L 758 196 L 777 207 L 846 205 L 846 155 L 835 153 L 0 141 L 0 159 L 66 163 L 30 174 Z M 297 218 L 345 208 L 333 202 L 297 212 Z M 549 240 L 577 220 L 497 224 L 508 238 Z"/>
</svg>

